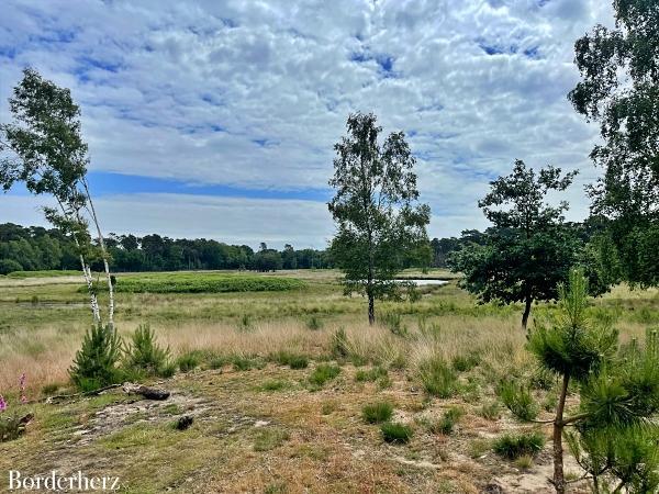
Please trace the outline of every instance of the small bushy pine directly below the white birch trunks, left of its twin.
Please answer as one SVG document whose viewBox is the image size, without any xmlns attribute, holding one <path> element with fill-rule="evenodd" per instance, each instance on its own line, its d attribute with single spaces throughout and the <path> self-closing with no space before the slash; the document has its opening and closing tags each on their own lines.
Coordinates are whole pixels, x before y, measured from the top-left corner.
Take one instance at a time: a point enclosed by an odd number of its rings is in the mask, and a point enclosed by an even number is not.
<svg viewBox="0 0 659 494">
<path fill-rule="evenodd" d="M 116 332 L 101 324 L 92 326 L 82 339 L 69 369 L 71 381 L 82 391 L 93 391 L 121 382 L 116 368 L 122 356 L 123 343 Z"/>
</svg>

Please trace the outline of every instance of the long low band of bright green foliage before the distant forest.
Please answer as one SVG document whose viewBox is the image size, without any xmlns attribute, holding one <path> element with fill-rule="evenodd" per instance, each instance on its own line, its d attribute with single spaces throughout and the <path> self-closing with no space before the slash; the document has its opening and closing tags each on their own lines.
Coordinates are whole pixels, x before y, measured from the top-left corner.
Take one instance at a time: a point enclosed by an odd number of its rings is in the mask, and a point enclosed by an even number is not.
<svg viewBox="0 0 659 494">
<path fill-rule="evenodd" d="M 227 293 L 298 290 L 304 282 L 294 278 L 226 273 L 148 273 L 122 277 L 114 290 L 124 293 Z M 87 287 L 79 291 L 85 292 Z M 98 291 L 107 290 L 99 284 Z"/>
</svg>

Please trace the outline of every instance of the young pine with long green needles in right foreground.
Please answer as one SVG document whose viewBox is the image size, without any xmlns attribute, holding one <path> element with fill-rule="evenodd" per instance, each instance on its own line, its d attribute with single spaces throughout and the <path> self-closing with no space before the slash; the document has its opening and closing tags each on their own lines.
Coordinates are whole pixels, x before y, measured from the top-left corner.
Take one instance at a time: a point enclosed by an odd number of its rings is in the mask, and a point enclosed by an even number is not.
<svg viewBox="0 0 659 494">
<path fill-rule="evenodd" d="M 655 492 L 659 412 L 659 345 L 651 334 L 638 344 L 617 349 L 617 330 L 595 323 L 588 313 L 588 281 L 572 269 L 559 285 L 559 315 L 529 332 L 528 349 L 545 369 L 560 379 L 554 420 L 554 485 L 566 492 L 562 439 L 567 435 L 577 460 L 595 492 Z M 568 414 L 570 382 L 580 390 L 579 411 Z M 514 411 L 513 411 L 514 412 Z M 605 489 L 606 491 L 603 491 Z"/>
</svg>

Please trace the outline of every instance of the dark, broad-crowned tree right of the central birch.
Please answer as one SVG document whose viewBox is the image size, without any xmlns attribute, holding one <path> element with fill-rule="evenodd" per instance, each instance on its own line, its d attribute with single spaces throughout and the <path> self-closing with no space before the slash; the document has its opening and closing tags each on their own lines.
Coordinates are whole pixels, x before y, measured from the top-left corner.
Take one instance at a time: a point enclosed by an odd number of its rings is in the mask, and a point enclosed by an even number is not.
<svg viewBox="0 0 659 494">
<path fill-rule="evenodd" d="M 568 203 L 545 202 L 550 191 L 566 190 L 576 172 L 547 167 L 536 172 L 516 160 L 512 175 L 490 183 L 478 205 L 493 223 L 484 245 L 471 243 L 450 258 L 454 271 L 465 274 L 465 288 L 481 302 L 523 302 L 526 328 L 536 300 L 556 299 L 577 257 L 577 237 L 563 224 Z"/>
</svg>

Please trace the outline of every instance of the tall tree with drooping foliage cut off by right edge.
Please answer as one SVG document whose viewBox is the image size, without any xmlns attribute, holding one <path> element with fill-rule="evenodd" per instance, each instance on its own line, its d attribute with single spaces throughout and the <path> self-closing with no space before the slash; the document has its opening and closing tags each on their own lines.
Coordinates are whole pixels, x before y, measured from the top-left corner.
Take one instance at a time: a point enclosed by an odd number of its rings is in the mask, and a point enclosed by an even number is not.
<svg viewBox="0 0 659 494">
<path fill-rule="evenodd" d="M 614 274 L 659 284 L 659 2 L 615 0 L 615 27 L 596 25 L 574 45 L 581 81 L 574 109 L 600 123 L 591 158 L 604 176 L 592 210 L 610 220 L 601 256 Z"/>
</svg>

